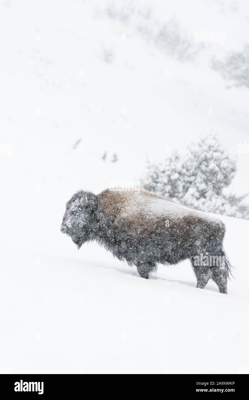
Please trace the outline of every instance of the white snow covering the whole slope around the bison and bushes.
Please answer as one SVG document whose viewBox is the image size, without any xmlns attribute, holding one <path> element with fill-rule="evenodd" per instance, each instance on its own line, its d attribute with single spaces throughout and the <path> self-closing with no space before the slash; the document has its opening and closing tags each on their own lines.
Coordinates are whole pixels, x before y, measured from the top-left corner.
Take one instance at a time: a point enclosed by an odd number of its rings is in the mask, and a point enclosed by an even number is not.
<svg viewBox="0 0 249 400">
<path fill-rule="evenodd" d="M 241 50 L 246 3 L 232 29 L 229 8 L 203 0 L 192 13 L 193 2 L 170 2 L 189 37 L 226 32 L 222 50 L 209 44 L 184 63 L 95 3 L 0 2 L 0 143 L 9 146 L 0 154 L 0 372 L 248 372 L 249 221 L 222 217 L 236 267 L 227 296 L 212 282 L 196 289 L 187 261 L 143 280 L 96 244 L 78 251 L 60 232 L 76 190 L 136 182 L 146 154 L 184 151 L 212 130 L 237 154 L 248 140 L 249 93 L 227 90 L 209 61 Z M 249 192 L 248 157 L 238 156 L 236 193 Z"/>
</svg>

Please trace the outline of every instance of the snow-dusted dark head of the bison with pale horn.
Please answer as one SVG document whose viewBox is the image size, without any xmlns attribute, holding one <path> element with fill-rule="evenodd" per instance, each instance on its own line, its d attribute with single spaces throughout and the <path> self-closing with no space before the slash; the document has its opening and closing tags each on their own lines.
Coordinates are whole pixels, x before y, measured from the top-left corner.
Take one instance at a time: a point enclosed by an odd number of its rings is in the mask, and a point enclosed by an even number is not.
<svg viewBox="0 0 249 400">
<path fill-rule="evenodd" d="M 91 239 L 95 206 L 96 196 L 83 191 L 74 194 L 66 204 L 66 212 L 60 230 L 70 236 L 78 248 Z"/>
</svg>

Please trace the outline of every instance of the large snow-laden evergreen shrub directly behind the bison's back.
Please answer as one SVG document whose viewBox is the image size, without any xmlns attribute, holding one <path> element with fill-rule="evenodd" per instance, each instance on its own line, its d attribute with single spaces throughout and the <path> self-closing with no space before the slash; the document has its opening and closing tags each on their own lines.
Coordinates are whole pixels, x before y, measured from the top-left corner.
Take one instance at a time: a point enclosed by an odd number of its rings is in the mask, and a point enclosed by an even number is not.
<svg viewBox="0 0 249 400">
<path fill-rule="evenodd" d="M 147 160 L 142 182 L 145 189 L 191 208 L 249 219 L 249 207 L 241 204 L 246 195 L 224 193 L 235 172 L 235 159 L 212 134 L 192 143 L 185 156 L 176 151 L 157 164 Z"/>
</svg>

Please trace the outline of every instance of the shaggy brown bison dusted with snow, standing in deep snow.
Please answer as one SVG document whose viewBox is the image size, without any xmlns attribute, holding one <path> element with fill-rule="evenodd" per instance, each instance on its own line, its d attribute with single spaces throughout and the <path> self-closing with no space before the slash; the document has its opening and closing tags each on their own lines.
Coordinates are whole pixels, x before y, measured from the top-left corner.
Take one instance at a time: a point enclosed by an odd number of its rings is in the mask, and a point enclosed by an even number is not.
<svg viewBox="0 0 249 400">
<path fill-rule="evenodd" d="M 66 204 L 61 231 L 78 248 L 96 240 L 148 279 L 157 264 L 189 259 L 204 288 L 210 278 L 227 293 L 231 264 L 223 250 L 225 225 L 214 218 L 146 190 L 83 190 Z"/>
</svg>

